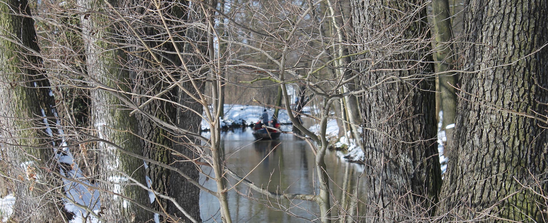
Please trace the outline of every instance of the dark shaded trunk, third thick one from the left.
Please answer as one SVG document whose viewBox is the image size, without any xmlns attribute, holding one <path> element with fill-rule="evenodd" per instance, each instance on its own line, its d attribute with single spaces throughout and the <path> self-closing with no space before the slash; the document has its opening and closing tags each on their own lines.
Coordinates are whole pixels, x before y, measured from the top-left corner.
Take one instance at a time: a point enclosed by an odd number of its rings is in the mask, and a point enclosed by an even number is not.
<svg viewBox="0 0 548 223">
<path fill-rule="evenodd" d="M 139 3 L 141 2 L 139 1 Z M 133 6 L 138 7 L 138 5 L 139 4 Z M 138 8 L 138 10 L 136 10 L 136 12 L 141 14 L 141 16 L 142 13 L 144 13 L 143 11 L 144 10 L 142 8 Z M 143 20 L 143 18 L 141 18 L 141 20 Z M 152 27 L 145 27 L 142 28 L 142 30 L 139 27 L 139 30 L 144 34 L 141 38 L 145 39 L 146 44 L 150 47 L 158 47 L 155 41 L 148 40 L 148 38 L 157 38 L 159 36 L 158 32 L 156 32 Z M 139 42 L 135 42 L 134 44 L 141 45 Z M 135 47 L 132 49 L 132 54 L 128 55 L 128 61 L 133 63 L 133 67 L 129 70 L 130 77 L 134 81 L 134 93 L 155 96 L 169 87 L 169 83 L 164 82 L 161 79 L 162 71 L 158 71 L 156 68 L 157 66 L 149 62 L 153 61 L 153 59 L 145 47 Z M 174 98 L 177 92 L 177 89 L 172 89 L 170 92 L 159 96 L 159 98 L 167 101 L 177 101 L 176 98 Z M 143 105 L 149 99 L 149 97 L 145 96 L 139 97 L 136 99 L 136 104 Z M 176 119 L 176 107 L 169 102 L 155 99 L 149 104 L 142 106 L 141 109 L 141 111 L 145 112 L 146 115 L 138 112 L 135 114 L 135 118 L 138 121 L 138 133 L 142 138 L 141 143 L 143 145 L 144 156 L 163 164 L 171 164 L 173 152 L 171 150 L 173 149 L 174 144 L 173 141 L 168 138 L 169 132 L 159 127 L 157 123 L 147 115 L 173 124 Z M 149 179 L 147 179 L 149 180 L 147 181 L 147 185 L 161 195 L 168 195 L 169 188 L 173 188 L 169 186 L 169 179 L 176 176 L 171 176 L 170 170 L 165 169 L 160 165 L 150 162 L 147 162 L 147 165 L 148 168 L 145 170 L 146 176 L 149 177 Z M 155 196 L 151 202 L 151 208 L 157 211 L 167 210 L 167 207 L 170 204 L 169 201 L 158 196 Z M 184 203 L 185 201 L 177 202 Z M 160 220 L 164 220 L 163 217 L 160 217 Z"/>
</svg>

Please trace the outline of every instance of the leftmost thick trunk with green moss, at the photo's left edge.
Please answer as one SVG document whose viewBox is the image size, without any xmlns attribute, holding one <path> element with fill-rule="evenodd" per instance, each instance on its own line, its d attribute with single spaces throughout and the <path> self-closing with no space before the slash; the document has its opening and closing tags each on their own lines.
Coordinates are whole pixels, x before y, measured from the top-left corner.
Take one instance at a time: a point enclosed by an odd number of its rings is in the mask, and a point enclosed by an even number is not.
<svg viewBox="0 0 548 223">
<path fill-rule="evenodd" d="M 0 147 L 11 178 L 17 222 L 64 222 L 56 190 L 60 181 L 52 147 L 57 134 L 55 100 L 42 66 L 34 21 L 26 0 L 0 3 Z M 9 41 L 8 39 L 12 40 Z M 34 52 L 31 52 L 32 49 Z M 19 146 L 20 145 L 20 146 Z M 27 147 L 31 146 L 31 147 Z"/>
</svg>

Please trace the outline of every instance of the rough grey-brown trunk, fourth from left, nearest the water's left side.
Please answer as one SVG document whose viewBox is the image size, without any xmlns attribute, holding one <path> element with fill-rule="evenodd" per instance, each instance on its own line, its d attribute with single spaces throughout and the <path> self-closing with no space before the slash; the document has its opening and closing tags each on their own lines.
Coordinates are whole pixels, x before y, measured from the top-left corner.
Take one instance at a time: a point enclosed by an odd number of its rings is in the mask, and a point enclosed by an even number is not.
<svg viewBox="0 0 548 223">
<path fill-rule="evenodd" d="M 196 4 L 191 4 L 190 1 L 181 1 L 181 4 L 184 4 L 184 7 L 181 9 L 173 9 L 174 19 L 181 18 L 183 21 L 188 22 L 189 24 L 197 22 L 206 22 L 206 15 L 204 15 L 203 10 Z M 181 35 L 184 33 L 184 36 Z M 204 92 L 204 82 L 198 77 L 203 75 L 204 70 L 201 70 L 204 64 L 207 64 L 209 61 L 207 59 L 207 47 L 204 42 L 206 42 L 206 31 L 201 27 L 189 27 L 186 30 L 178 33 L 178 37 L 187 37 L 185 38 L 185 43 L 178 43 L 175 47 L 179 47 L 183 53 L 193 53 L 193 54 L 184 54 L 179 60 L 175 60 L 177 64 L 184 62 L 186 64 L 187 70 L 182 70 L 180 72 L 181 77 L 187 78 L 182 87 L 187 89 L 187 91 L 197 96 L 198 92 Z M 193 79 L 193 83 L 189 79 Z M 198 103 L 196 100 L 193 100 L 190 95 L 184 93 L 182 89 L 178 89 L 177 93 L 178 103 L 181 105 L 186 105 L 190 109 L 196 111 L 197 113 L 202 113 L 203 105 Z M 180 129 L 186 129 L 193 133 L 200 132 L 200 125 L 202 118 L 199 117 L 195 112 L 188 110 L 187 108 L 178 107 L 176 111 L 176 122 L 177 127 Z M 174 145 L 174 148 L 177 152 L 194 159 L 198 156 L 199 151 L 196 150 L 195 145 L 201 145 L 201 142 L 198 139 L 192 138 L 187 135 L 179 135 L 176 139 L 177 143 Z M 181 171 L 189 175 L 195 181 L 198 181 L 199 174 L 198 169 L 195 164 L 189 162 L 188 159 L 183 157 L 174 157 L 172 159 L 173 167 L 179 168 Z M 172 176 L 174 173 L 172 172 Z M 200 219 L 200 210 L 199 210 L 199 193 L 200 190 L 192 185 L 189 181 L 183 179 L 181 176 L 171 177 L 169 179 L 170 185 L 179 185 L 172 188 L 169 191 L 169 195 L 174 197 L 177 201 L 186 201 L 181 204 L 181 207 L 184 208 L 189 214 L 193 216 L 198 221 Z M 172 213 L 177 213 L 179 216 L 182 216 L 179 210 L 175 208 L 174 205 L 169 205 L 168 210 Z"/>
</svg>

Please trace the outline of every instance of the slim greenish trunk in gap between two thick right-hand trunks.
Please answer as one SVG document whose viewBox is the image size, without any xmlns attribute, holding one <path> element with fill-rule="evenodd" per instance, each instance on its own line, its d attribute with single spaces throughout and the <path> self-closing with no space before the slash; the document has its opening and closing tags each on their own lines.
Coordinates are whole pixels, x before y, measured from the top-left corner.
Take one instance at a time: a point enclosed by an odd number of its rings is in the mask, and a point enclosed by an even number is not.
<svg viewBox="0 0 548 223">
<path fill-rule="evenodd" d="M 448 0 L 433 0 L 432 14 L 434 15 L 433 35 L 435 37 L 433 58 L 436 61 L 436 72 L 439 73 L 437 92 L 440 94 L 440 105 L 443 111 L 442 129 L 446 130 L 447 145 L 450 145 L 453 128 L 446 129 L 446 127 L 455 123 L 456 89 L 451 85 L 456 86 L 457 75 L 455 72 L 446 72 L 454 70 L 453 33 Z M 449 151 L 450 147 L 446 146 L 446 156 Z"/>
</svg>

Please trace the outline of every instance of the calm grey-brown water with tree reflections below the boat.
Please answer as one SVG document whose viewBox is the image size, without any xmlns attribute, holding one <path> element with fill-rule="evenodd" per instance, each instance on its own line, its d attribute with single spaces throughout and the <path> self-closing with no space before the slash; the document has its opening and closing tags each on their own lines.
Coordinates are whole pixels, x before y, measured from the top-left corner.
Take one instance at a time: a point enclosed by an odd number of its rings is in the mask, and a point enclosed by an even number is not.
<svg viewBox="0 0 548 223">
<path fill-rule="evenodd" d="M 314 154 L 305 141 L 293 135 L 282 134 L 279 140 L 255 141 L 250 128 L 237 129 L 222 135 L 222 146 L 229 168 L 241 176 L 248 174 L 247 178 L 257 185 L 285 193 L 318 191 Z M 333 196 L 341 207 L 346 207 L 345 211 L 356 211 L 355 203 L 358 203 L 359 210 L 359 199 L 362 199 L 359 195 L 365 188 L 363 180 L 360 180 L 362 168 L 341 161 L 334 153 L 328 151 L 326 155 Z M 210 168 L 203 170 L 214 175 Z M 200 182 L 216 191 L 215 181 L 206 181 L 202 175 Z M 236 183 L 231 180 L 229 188 Z M 343 190 L 347 192 L 343 193 Z M 353 194 L 358 199 L 343 194 Z M 238 184 L 236 190 L 228 192 L 228 196 L 233 222 L 318 222 L 319 209 L 314 202 L 278 201 L 250 191 L 244 184 Z M 219 202 L 214 196 L 202 192 L 200 205 L 204 222 L 220 222 Z"/>
</svg>

